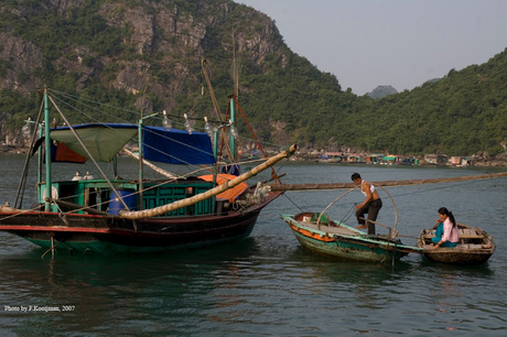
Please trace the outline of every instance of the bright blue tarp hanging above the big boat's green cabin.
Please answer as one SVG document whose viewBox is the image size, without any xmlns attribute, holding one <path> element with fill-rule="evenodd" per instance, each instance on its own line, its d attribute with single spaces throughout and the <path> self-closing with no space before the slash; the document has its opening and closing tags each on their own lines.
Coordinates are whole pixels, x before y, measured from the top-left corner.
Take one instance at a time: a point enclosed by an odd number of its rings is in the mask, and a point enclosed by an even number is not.
<svg viewBox="0 0 507 337">
<path fill-rule="evenodd" d="M 166 164 L 214 164 L 212 140 L 205 132 L 142 127 L 142 156 Z"/>
</svg>

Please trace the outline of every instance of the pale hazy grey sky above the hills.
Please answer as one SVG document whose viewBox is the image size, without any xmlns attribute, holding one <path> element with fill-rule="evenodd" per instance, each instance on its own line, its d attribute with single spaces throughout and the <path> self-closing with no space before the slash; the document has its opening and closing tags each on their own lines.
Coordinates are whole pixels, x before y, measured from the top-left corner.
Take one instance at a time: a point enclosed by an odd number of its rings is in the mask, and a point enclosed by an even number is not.
<svg viewBox="0 0 507 337">
<path fill-rule="evenodd" d="M 342 89 L 398 91 L 507 47 L 507 0 L 235 0 L 266 13 L 287 45 Z"/>
</svg>

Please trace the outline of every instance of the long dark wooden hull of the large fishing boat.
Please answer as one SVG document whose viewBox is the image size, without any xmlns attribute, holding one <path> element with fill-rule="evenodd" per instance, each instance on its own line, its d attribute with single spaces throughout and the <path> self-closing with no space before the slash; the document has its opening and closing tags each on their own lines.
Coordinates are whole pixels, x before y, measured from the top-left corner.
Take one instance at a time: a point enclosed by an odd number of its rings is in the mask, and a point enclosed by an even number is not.
<svg viewBox="0 0 507 337">
<path fill-rule="evenodd" d="M 157 252 L 217 244 L 248 237 L 262 203 L 223 215 L 157 217 L 130 220 L 118 216 L 55 213 L 3 213 L 0 230 L 25 238 L 43 248 L 71 252 Z"/>
</svg>

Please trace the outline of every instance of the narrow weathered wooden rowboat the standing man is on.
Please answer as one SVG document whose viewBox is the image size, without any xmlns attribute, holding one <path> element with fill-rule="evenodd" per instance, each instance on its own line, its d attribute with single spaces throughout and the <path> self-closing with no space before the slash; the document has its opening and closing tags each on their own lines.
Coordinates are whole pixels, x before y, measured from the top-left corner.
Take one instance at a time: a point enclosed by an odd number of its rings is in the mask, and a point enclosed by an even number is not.
<svg viewBox="0 0 507 337">
<path fill-rule="evenodd" d="M 330 220 L 325 214 L 300 213 L 281 217 L 301 246 L 315 253 L 357 261 L 390 262 L 398 261 L 409 252 L 420 252 L 419 248 L 404 246 L 396 237 L 367 235 L 343 222 Z"/>
</svg>

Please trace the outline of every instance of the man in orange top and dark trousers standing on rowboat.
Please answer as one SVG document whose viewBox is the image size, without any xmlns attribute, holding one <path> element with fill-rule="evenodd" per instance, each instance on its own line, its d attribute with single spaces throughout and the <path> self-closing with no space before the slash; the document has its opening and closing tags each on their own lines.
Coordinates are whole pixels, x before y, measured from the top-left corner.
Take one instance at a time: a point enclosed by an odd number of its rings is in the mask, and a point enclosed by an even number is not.
<svg viewBox="0 0 507 337">
<path fill-rule="evenodd" d="M 367 181 L 364 181 L 359 173 L 354 173 L 352 175 L 352 181 L 357 186 L 360 186 L 360 192 L 365 195 L 365 200 L 363 204 L 356 205 L 356 218 L 359 226 L 356 228 L 366 229 L 368 228 L 368 235 L 375 235 L 375 224 L 370 221 L 376 221 L 378 211 L 382 208 L 382 200 L 378 196 L 375 186 Z M 367 225 L 365 224 L 364 217 L 365 214 L 368 214 Z"/>
</svg>

